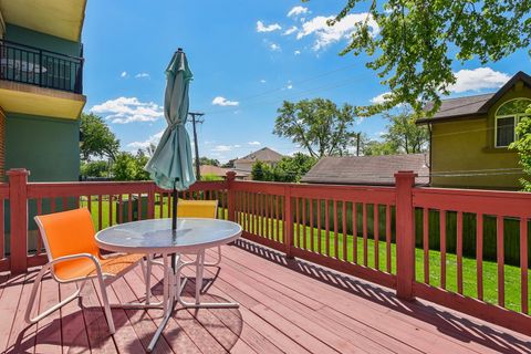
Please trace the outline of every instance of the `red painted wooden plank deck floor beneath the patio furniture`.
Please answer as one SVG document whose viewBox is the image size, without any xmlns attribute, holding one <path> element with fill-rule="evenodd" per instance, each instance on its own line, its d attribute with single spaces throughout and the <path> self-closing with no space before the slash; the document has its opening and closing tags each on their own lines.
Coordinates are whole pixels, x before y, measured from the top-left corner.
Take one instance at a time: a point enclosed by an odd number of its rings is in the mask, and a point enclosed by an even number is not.
<svg viewBox="0 0 531 354">
<path fill-rule="evenodd" d="M 389 290 L 247 241 L 225 247 L 223 257 L 206 298 L 235 300 L 240 309 L 177 311 L 157 353 L 531 353 L 530 337 L 429 303 L 402 302 Z M 113 310 L 117 332 L 110 336 L 90 284 L 81 306 L 72 302 L 27 326 L 35 274 L 0 275 L 0 348 L 7 353 L 143 353 L 160 321 L 159 310 Z M 111 301 L 140 299 L 142 289 L 137 269 L 112 285 Z M 39 305 L 72 290 L 48 279 Z"/>
</svg>

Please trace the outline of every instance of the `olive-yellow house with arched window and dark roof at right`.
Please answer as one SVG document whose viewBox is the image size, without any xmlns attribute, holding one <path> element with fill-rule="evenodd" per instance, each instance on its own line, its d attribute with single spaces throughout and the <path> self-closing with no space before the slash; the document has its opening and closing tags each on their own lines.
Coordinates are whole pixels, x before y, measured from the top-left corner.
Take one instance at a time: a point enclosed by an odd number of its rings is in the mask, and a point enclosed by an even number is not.
<svg viewBox="0 0 531 354">
<path fill-rule="evenodd" d="M 433 117 L 417 121 L 431 135 L 431 185 L 519 189 L 522 171 L 508 146 L 530 104 L 531 76 L 519 72 L 496 93 L 445 100 Z"/>
</svg>

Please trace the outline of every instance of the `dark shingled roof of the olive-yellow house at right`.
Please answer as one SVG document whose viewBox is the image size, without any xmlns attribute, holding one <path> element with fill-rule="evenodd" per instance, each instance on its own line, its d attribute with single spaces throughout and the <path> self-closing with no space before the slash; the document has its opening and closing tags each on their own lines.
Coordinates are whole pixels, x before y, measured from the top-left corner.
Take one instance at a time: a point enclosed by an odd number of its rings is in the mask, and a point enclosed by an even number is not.
<svg viewBox="0 0 531 354">
<path fill-rule="evenodd" d="M 524 72 L 518 72 L 511 77 L 498 92 L 442 100 L 439 111 L 435 113 L 433 117 L 421 118 L 417 121 L 417 124 L 436 123 L 452 121 L 464 117 L 481 116 L 486 114 L 489 108 L 501 98 L 518 81 L 531 87 L 531 76 Z M 431 110 L 433 103 L 426 105 L 426 111 Z"/>
</svg>

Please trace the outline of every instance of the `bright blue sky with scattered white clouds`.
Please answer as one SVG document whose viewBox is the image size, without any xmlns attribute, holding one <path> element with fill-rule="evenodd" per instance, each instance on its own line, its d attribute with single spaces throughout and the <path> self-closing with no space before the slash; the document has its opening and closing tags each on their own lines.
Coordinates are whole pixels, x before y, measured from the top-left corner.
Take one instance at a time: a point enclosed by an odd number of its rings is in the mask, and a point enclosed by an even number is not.
<svg viewBox="0 0 531 354">
<path fill-rule="evenodd" d="M 327 28 L 326 18 L 345 2 L 88 0 L 85 111 L 104 116 L 125 150 L 156 143 L 165 127 L 164 70 L 183 48 L 195 74 L 190 108 L 206 113 L 198 129 L 201 156 L 225 162 L 264 146 L 291 154 L 298 147 L 272 134 L 283 100 L 366 105 L 387 91 L 365 67 L 366 58 L 337 55 L 366 10 L 362 6 L 339 27 Z M 454 70 L 452 95 L 470 95 L 494 91 L 531 67 L 520 51 L 498 63 L 472 61 Z M 355 127 L 374 138 L 384 128 L 381 117 Z"/>
</svg>

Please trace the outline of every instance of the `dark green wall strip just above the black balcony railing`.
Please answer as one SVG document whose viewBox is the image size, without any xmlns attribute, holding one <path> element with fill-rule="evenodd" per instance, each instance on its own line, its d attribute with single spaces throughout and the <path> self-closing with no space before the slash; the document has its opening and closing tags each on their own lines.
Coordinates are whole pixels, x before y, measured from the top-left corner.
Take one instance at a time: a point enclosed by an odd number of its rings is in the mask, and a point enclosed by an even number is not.
<svg viewBox="0 0 531 354">
<path fill-rule="evenodd" d="M 52 52 L 80 56 L 81 43 L 7 23 L 6 40 Z"/>
</svg>

